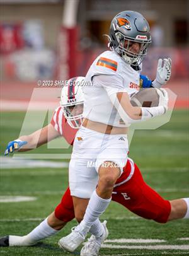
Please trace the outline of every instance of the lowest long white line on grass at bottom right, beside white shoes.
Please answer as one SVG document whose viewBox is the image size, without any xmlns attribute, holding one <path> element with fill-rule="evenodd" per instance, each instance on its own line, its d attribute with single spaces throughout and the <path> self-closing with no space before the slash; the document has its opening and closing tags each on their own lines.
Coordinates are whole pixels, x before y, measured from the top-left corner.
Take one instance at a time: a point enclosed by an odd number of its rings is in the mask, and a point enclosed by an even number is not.
<svg viewBox="0 0 189 256">
<path fill-rule="evenodd" d="M 101 245 L 101 248 L 135 250 L 189 250 L 189 245 Z"/>
</svg>

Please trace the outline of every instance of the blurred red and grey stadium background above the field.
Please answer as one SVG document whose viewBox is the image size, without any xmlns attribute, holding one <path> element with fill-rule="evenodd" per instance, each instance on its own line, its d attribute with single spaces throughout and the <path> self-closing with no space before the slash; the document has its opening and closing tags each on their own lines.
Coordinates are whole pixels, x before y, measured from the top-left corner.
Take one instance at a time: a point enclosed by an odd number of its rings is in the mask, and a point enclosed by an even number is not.
<svg viewBox="0 0 189 256">
<path fill-rule="evenodd" d="M 123 9 L 140 11 L 151 25 L 143 73 L 154 78 L 158 57 L 170 56 L 168 86 L 178 95 L 176 107 L 188 107 L 188 6 L 188 0 L 1 0 L 1 108 L 26 109 L 38 79 L 85 76 Z"/>
</svg>

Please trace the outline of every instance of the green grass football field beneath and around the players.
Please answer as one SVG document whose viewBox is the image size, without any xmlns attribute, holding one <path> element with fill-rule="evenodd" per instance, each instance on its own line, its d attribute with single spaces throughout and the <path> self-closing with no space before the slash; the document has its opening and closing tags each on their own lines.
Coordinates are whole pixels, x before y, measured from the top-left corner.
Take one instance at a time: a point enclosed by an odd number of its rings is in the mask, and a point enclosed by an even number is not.
<svg viewBox="0 0 189 256">
<path fill-rule="evenodd" d="M 24 117 L 25 113 L 22 112 L 1 113 L 1 156 L 8 141 L 19 136 Z M 165 199 L 189 195 L 188 127 L 188 112 L 176 110 L 170 122 L 161 128 L 155 131 L 135 132 L 130 146 L 130 158 L 140 167 L 146 182 Z M 66 152 L 71 152 L 71 148 Z M 60 154 L 62 149 L 53 150 L 42 146 L 33 153 Z M 30 232 L 54 210 L 67 184 L 67 168 L 1 168 L 1 195 L 25 195 L 36 197 L 36 200 L 1 202 L 0 236 L 25 235 Z M 189 220 L 158 224 L 137 218 L 114 202 L 101 216 L 101 220 L 103 219 L 108 220 L 108 240 L 112 241 L 105 243 L 100 255 L 189 255 L 189 250 L 186 250 L 189 248 Z M 67 224 L 58 235 L 33 247 L 1 247 L 1 255 L 71 255 L 62 252 L 57 241 L 70 233 L 74 225 L 76 221 Z M 124 238 L 125 241 L 119 240 L 120 238 Z M 113 241 L 115 239 L 118 241 Z M 160 241 L 142 243 L 139 239 Z M 74 254 L 79 255 L 79 250 Z"/>
</svg>

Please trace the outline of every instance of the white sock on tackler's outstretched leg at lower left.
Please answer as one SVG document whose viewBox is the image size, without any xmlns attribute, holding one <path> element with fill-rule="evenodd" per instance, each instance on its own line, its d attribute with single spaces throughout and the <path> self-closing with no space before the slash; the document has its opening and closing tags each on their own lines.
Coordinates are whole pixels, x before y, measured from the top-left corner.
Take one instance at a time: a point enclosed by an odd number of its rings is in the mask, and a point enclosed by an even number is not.
<svg viewBox="0 0 189 256">
<path fill-rule="evenodd" d="M 54 230 L 47 223 L 47 218 L 42 221 L 34 230 L 25 236 L 9 236 L 9 246 L 35 245 L 38 241 L 55 235 L 59 230 Z"/>
</svg>

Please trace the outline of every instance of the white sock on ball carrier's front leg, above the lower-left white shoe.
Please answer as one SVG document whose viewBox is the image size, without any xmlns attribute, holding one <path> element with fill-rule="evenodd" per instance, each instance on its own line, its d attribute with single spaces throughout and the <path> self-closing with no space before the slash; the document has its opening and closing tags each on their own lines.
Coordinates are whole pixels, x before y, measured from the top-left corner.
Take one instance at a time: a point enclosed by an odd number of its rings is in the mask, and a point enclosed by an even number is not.
<svg viewBox="0 0 189 256">
<path fill-rule="evenodd" d="M 93 223 L 95 223 L 96 219 L 105 212 L 106 208 L 110 204 L 112 197 L 109 199 L 103 199 L 96 194 L 96 190 L 91 195 L 91 198 L 88 203 L 88 207 L 86 208 L 86 212 L 84 214 L 83 221 L 76 227 L 76 231 L 83 236 L 86 236 L 88 231 L 90 230 Z"/>
</svg>

